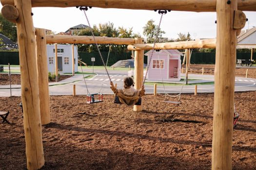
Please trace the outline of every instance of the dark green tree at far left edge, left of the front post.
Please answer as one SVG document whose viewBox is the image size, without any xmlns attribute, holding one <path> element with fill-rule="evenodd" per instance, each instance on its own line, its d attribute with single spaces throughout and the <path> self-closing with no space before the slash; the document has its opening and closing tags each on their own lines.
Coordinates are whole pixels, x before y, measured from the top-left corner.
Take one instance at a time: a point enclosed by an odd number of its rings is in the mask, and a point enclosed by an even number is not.
<svg viewBox="0 0 256 170">
<path fill-rule="evenodd" d="M 0 13 L 0 34 L 10 38 L 13 42 L 17 42 L 16 25 L 5 19 Z"/>
</svg>

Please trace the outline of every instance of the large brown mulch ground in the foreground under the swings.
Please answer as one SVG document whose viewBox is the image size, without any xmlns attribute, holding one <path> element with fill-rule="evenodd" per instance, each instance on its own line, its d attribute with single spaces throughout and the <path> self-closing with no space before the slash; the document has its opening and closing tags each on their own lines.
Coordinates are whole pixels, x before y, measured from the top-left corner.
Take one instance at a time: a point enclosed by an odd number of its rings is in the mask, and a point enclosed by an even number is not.
<svg viewBox="0 0 256 170">
<path fill-rule="evenodd" d="M 213 94 L 182 94 L 179 106 L 146 95 L 144 110 L 85 96 L 51 96 L 51 123 L 42 127 L 43 170 L 210 170 Z M 240 117 L 233 170 L 256 167 L 256 91 L 235 93 Z M 26 169 L 20 97 L 0 97 L 12 124 L 0 123 L 0 169 Z"/>
</svg>

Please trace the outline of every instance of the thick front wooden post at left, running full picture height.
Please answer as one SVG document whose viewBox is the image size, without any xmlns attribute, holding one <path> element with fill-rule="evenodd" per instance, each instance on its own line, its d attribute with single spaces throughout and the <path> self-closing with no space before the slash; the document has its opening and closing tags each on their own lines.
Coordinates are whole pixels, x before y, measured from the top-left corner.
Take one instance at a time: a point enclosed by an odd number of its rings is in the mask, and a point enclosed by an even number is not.
<svg viewBox="0 0 256 170">
<path fill-rule="evenodd" d="M 17 35 L 20 55 L 21 101 L 26 142 L 27 169 L 37 170 L 44 165 L 42 128 L 39 106 L 36 38 L 30 0 L 14 0 L 19 11 Z"/>
</svg>

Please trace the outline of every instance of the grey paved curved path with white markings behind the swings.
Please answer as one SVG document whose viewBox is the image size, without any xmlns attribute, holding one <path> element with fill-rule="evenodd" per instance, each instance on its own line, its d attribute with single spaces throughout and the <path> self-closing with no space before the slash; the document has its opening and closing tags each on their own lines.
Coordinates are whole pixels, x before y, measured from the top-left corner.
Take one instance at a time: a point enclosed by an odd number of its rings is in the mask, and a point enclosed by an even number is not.
<svg viewBox="0 0 256 170">
<path fill-rule="evenodd" d="M 91 70 L 86 70 L 91 71 Z M 93 78 L 86 79 L 88 91 L 93 93 L 113 94 L 109 88 L 109 79 L 107 75 L 104 77 L 104 70 L 95 70 L 97 75 Z M 118 88 L 123 86 L 123 78 L 127 76 L 127 70 L 109 70 L 112 81 L 118 84 Z M 184 75 L 182 74 L 182 77 Z M 202 82 L 213 82 L 213 75 L 200 75 L 200 74 L 189 74 L 189 79 L 197 79 L 197 81 L 191 81 L 189 83 L 202 83 Z M 104 81 L 103 81 L 104 80 Z M 102 85 L 103 82 L 103 85 Z M 50 95 L 72 95 L 73 84 L 76 85 L 76 94 L 84 95 L 87 94 L 87 89 L 83 81 L 82 75 L 75 75 L 71 78 L 63 80 L 58 83 L 50 83 L 49 90 Z M 101 89 L 102 86 L 102 89 Z M 0 85 L 0 96 L 10 96 L 10 85 Z M 179 93 L 182 85 L 165 85 L 166 93 Z M 153 93 L 153 85 L 145 85 L 146 93 Z M 100 91 L 101 89 L 101 91 Z M 235 91 L 251 91 L 256 90 L 256 79 L 236 77 Z M 182 93 L 194 93 L 195 85 L 184 85 Z M 197 85 L 197 93 L 214 92 L 214 85 Z M 162 85 L 158 85 L 158 93 L 164 93 Z M 12 85 L 12 95 L 20 96 L 20 85 Z"/>
</svg>

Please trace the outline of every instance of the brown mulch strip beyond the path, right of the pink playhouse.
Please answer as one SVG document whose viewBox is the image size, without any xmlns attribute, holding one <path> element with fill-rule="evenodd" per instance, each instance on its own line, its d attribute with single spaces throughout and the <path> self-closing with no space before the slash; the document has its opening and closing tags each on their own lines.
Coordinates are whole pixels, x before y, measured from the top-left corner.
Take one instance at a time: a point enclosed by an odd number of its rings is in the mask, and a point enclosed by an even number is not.
<svg viewBox="0 0 256 170">
<path fill-rule="evenodd" d="M 204 68 L 204 74 L 214 75 L 214 67 L 215 65 L 191 64 L 188 72 L 192 74 L 202 74 L 202 68 Z M 186 66 L 184 65 L 183 68 L 186 68 Z M 256 68 L 236 68 L 236 76 L 245 77 L 247 69 L 248 69 L 247 77 L 256 79 Z M 184 69 L 184 73 L 185 73 L 185 69 Z"/>
</svg>

